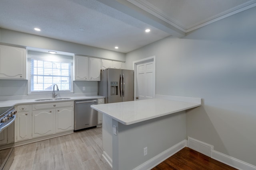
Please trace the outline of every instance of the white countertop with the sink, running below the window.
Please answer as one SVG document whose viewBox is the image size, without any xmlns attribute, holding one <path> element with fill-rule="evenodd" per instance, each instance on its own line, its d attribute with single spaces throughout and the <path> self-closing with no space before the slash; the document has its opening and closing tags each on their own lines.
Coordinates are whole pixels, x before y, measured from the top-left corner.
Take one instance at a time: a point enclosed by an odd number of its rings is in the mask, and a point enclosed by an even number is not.
<svg viewBox="0 0 256 170">
<path fill-rule="evenodd" d="M 8 107 L 19 104 L 35 104 L 35 103 L 47 103 L 47 102 L 67 102 L 67 101 L 75 101 L 75 100 L 90 100 L 90 99 L 100 99 L 105 98 L 104 96 L 76 96 L 76 97 L 67 97 L 70 99 L 64 100 L 46 100 L 46 101 L 35 101 L 36 99 L 20 99 L 20 100 L 6 100 L 0 101 L 0 107 Z"/>
</svg>

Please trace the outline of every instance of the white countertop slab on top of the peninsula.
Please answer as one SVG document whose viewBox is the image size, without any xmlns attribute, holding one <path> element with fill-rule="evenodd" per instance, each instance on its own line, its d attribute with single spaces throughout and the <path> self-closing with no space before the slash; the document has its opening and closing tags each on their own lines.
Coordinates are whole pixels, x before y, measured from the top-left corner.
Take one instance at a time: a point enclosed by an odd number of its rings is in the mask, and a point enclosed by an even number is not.
<svg viewBox="0 0 256 170">
<path fill-rule="evenodd" d="M 201 106 L 201 103 L 179 102 L 155 98 L 148 100 L 92 105 L 91 107 L 112 117 L 112 119 L 115 119 L 124 125 L 130 125 L 197 106 Z"/>
</svg>

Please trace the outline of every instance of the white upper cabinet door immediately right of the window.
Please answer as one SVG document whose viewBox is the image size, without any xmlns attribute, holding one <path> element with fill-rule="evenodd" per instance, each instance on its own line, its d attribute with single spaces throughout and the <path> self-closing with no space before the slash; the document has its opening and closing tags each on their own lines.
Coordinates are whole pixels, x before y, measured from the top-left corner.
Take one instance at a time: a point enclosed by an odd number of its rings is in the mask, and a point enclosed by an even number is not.
<svg viewBox="0 0 256 170">
<path fill-rule="evenodd" d="M 75 56 L 75 80 L 88 80 L 88 57 Z"/>
</svg>

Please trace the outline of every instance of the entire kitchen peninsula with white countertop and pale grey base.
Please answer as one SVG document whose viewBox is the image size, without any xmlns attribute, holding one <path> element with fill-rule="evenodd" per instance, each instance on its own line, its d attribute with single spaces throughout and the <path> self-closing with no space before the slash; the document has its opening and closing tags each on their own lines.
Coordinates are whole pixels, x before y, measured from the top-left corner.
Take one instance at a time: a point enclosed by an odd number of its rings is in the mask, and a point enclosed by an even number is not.
<svg viewBox="0 0 256 170">
<path fill-rule="evenodd" d="M 200 98 L 160 95 L 91 106 L 103 113 L 103 157 L 113 170 L 154 167 L 186 146 L 186 109 L 198 106 Z"/>
</svg>

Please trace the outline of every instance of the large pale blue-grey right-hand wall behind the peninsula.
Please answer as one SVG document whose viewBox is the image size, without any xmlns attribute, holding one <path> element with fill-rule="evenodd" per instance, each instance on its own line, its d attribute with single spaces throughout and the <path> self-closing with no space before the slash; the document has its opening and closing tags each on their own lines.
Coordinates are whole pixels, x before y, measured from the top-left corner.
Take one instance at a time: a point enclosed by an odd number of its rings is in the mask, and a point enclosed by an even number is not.
<svg viewBox="0 0 256 170">
<path fill-rule="evenodd" d="M 126 54 L 156 56 L 156 94 L 203 98 L 186 114 L 187 136 L 256 166 L 256 8 L 183 39 L 167 37 Z"/>
</svg>

